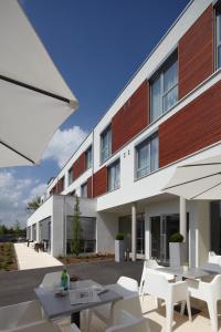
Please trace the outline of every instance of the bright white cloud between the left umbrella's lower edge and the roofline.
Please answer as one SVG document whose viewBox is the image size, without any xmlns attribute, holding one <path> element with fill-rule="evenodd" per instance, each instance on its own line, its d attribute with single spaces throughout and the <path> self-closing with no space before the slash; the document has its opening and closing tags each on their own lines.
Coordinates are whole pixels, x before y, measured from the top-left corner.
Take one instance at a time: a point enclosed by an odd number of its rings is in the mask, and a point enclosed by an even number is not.
<svg viewBox="0 0 221 332">
<path fill-rule="evenodd" d="M 86 135 L 87 133 L 78 126 L 64 131 L 57 129 L 44 152 L 43 159 L 53 159 L 62 168 Z"/>
</svg>

